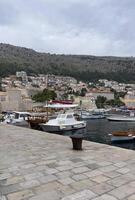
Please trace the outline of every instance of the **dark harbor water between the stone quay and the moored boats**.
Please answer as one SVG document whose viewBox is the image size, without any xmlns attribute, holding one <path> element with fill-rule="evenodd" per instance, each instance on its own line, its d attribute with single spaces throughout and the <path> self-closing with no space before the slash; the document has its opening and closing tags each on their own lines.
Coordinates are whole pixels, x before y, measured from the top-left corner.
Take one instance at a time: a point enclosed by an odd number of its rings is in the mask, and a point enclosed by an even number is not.
<svg viewBox="0 0 135 200">
<path fill-rule="evenodd" d="M 83 134 L 86 140 L 114 145 L 135 150 L 135 140 L 132 142 L 111 142 L 110 134 L 113 131 L 135 130 L 135 122 L 111 122 L 107 119 L 87 120 L 86 129 L 63 132 L 63 135 Z"/>
</svg>

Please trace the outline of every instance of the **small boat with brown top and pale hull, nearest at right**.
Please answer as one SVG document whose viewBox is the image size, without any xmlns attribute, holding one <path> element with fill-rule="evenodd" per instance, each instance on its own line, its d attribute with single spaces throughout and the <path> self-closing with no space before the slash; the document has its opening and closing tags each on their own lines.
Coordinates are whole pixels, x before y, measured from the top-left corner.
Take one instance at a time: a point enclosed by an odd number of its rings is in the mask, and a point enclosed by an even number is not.
<svg viewBox="0 0 135 200">
<path fill-rule="evenodd" d="M 125 141 L 131 141 L 135 138 L 135 131 L 128 130 L 128 131 L 115 131 L 111 134 L 111 141 L 112 142 L 125 142 Z"/>
</svg>

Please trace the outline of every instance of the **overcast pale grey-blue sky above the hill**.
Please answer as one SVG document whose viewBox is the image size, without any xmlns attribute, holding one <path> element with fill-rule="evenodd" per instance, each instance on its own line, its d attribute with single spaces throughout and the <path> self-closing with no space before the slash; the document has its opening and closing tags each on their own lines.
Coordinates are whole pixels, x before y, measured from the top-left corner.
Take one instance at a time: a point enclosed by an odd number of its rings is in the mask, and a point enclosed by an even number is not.
<svg viewBox="0 0 135 200">
<path fill-rule="evenodd" d="M 135 1 L 0 0 L 0 42 L 50 53 L 135 56 Z"/>
</svg>

